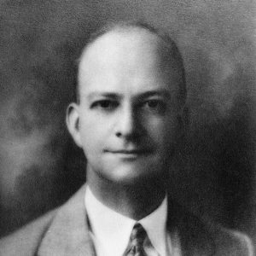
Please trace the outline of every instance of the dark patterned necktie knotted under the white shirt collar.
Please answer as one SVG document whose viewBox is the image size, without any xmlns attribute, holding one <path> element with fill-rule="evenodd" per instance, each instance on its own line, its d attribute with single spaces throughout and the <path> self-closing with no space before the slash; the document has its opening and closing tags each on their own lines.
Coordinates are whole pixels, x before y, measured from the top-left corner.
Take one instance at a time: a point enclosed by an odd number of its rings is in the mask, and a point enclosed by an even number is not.
<svg viewBox="0 0 256 256">
<path fill-rule="evenodd" d="M 147 251 L 148 253 L 146 253 Z M 123 256 L 151 256 L 159 254 L 154 250 L 151 241 L 148 238 L 146 230 L 139 223 L 133 226 L 131 230 L 130 241 Z"/>
</svg>

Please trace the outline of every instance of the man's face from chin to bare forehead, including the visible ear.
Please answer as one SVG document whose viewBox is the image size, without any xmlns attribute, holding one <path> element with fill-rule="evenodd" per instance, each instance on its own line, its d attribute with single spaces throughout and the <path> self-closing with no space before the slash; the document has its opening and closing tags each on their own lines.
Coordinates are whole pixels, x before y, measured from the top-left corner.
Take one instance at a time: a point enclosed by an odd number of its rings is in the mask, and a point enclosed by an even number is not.
<svg viewBox="0 0 256 256">
<path fill-rule="evenodd" d="M 88 161 L 87 179 L 135 183 L 163 176 L 179 136 L 177 74 L 149 32 L 108 32 L 79 66 L 79 104 L 67 125 Z"/>
</svg>

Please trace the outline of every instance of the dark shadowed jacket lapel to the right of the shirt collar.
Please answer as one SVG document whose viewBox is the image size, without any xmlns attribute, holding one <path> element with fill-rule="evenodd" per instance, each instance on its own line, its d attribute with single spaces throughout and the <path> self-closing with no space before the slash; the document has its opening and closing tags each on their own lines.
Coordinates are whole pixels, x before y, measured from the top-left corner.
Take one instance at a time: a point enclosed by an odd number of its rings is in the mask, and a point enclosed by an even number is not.
<svg viewBox="0 0 256 256">
<path fill-rule="evenodd" d="M 168 201 L 167 230 L 177 230 L 183 256 L 212 256 L 215 244 L 210 231 L 192 213 L 174 201 Z"/>
</svg>

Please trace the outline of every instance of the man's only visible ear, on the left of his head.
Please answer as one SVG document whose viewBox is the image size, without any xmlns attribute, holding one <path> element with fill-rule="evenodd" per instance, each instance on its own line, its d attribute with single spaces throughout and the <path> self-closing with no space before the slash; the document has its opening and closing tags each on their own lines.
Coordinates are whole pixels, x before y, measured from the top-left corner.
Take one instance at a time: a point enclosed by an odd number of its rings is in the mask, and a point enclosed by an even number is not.
<svg viewBox="0 0 256 256">
<path fill-rule="evenodd" d="M 82 148 L 80 130 L 79 130 L 79 105 L 71 103 L 67 107 L 66 113 L 67 130 L 73 137 L 74 142 Z"/>
</svg>

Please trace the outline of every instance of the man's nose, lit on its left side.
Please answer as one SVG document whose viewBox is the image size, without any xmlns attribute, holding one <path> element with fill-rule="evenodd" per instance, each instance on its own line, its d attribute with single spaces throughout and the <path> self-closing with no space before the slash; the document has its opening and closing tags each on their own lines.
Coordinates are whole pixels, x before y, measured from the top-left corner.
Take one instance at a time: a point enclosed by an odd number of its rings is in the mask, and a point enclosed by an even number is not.
<svg viewBox="0 0 256 256">
<path fill-rule="evenodd" d="M 140 134 L 140 125 L 137 119 L 135 109 L 131 107 L 124 108 L 119 114 L 115 126 L 115 135 L 117 137 L 124 137 L 125 139 L 131 139 L 137 137 Z"/>
</svg>

